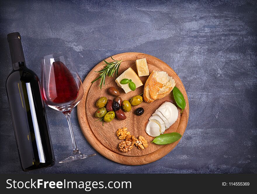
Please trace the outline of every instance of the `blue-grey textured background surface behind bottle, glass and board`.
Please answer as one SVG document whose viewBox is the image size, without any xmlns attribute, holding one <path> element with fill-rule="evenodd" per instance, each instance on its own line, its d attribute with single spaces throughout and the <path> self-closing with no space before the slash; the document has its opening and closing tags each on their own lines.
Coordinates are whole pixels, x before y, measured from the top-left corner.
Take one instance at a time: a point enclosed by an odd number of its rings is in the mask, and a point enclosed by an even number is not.
<svg viewBox="0 0 257 194">
<path fill-rule="evenodd" d="M 164 158 L 142 166 L 100 154 L 28 173 L 257 173 L 257 5 L 255 1 L 2 1 L 0 173 L 20 168 L 5 81 L 12 70 L 6 35 L 20 32 L 27 66 L 70 51 L 84 80 L 101 60 L 141 52 L 169 64 L 185 85 L 185 134 Z M 66 119 L 49 107 L 57 161 L 72 149 Z M 78 147 L 95 153 L 72 122 Z"/>
</svg>

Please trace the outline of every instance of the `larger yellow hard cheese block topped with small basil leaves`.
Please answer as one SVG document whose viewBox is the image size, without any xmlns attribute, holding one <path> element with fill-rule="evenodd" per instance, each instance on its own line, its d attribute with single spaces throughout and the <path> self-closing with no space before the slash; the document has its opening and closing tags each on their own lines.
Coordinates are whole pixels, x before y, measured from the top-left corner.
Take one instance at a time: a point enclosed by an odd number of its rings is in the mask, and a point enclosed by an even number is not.
<svg viewBox="0 0 257 194">
<path fill-rule="evenodd" d="M 130 91 L 132 91 L 129 88 L 129 84 L 120 84 L 120 81 L 123 79 L 131 79 L 135 84 L 136 84 L 136 88 L 140 87 L 141 85 L 143 85 L 142 81 L 140 80 L 140 78 L 138 77 L 138 75 L 135 73 L 135 71 L 133 71 L 133 69 L 130 67 L 129 69 L 127 69 L 126 71 L 124 71 L 116 80 L 115 82 L 117 83 L 117 85 L 119 87 L 121 87 L 125 93 L 128 93 Z"/>
</svg>

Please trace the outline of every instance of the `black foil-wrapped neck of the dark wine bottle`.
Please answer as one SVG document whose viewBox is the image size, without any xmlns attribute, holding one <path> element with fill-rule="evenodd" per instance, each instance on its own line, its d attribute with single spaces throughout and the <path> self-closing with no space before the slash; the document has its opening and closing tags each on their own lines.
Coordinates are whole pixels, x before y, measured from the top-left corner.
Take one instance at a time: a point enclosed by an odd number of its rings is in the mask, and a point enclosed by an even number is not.
<svg viewBox="0 0 257 194">
<path fill-rule="evenodd" d="M 9 43 L 13 69 L 17 70 L 26 67 L 20 34 L 18 32 L 10 33 L 7 35 L 7 39 Z"/>
</svg>

